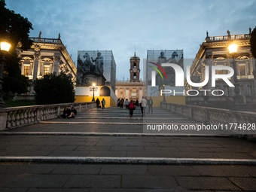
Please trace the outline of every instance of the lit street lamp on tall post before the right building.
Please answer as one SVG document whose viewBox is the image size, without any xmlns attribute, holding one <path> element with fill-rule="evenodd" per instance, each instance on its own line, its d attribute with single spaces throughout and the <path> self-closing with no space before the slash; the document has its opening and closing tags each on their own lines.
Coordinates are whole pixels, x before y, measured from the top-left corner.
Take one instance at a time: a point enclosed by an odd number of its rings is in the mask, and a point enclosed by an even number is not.
<svg viewBox="0 0 256 192">
<path fill-rule="evenodd" d="M 231 107 L 231 108 L 233 108 L 233 110 L 237 110 L 237 111 L 246 111 L 247 108 L 245 107 L 245 96 L 239 95 L 240 87 L 239 87 L 239 83 L 237 80 L 237 69 L 236 69 L 236 61 L 235 61 L 235 56 L 236 56 L 236 52 L 237 52 L 237 44 L 234 41 L 231 41 L 230 44 L 228 45 L 227 49 L 229 50 L 230 55 L 233 58 L 232 64 L 233 64 L 234 82 L 235 82 L 234 93 L 236 93 L 236 95 L 233 97 L 233 107 Z M 241 106 L 241 105 L 244 105 L 244 106 Z"/>
</svg>

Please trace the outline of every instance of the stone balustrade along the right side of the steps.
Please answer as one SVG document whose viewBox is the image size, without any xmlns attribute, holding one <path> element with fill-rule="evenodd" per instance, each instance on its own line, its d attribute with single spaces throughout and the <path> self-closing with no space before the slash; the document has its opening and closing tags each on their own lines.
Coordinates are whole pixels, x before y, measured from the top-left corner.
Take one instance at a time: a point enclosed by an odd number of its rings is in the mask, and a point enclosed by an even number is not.
<svg viewBox="0 0 256 192">
<path fill-rule="evenodd" d="M 230 111 L 222 108 L 206 108 L 168 102 L 161 102 L 161 108 L 207 124 L 256 123 L 256 113 L 251 111 Z"/>
</svg>

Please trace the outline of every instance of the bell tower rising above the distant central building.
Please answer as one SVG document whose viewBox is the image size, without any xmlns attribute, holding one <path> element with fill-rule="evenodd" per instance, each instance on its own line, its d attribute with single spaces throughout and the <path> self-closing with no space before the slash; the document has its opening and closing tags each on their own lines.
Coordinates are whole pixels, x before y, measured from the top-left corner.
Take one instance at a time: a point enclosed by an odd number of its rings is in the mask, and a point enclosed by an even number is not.
<svg viewBox="0 0 256 192">
<path fill-rule="evenodd" d="M 130 82 L 139 82 L 139 56 L 134 56 L 130 58 Z"/>
</svg>

